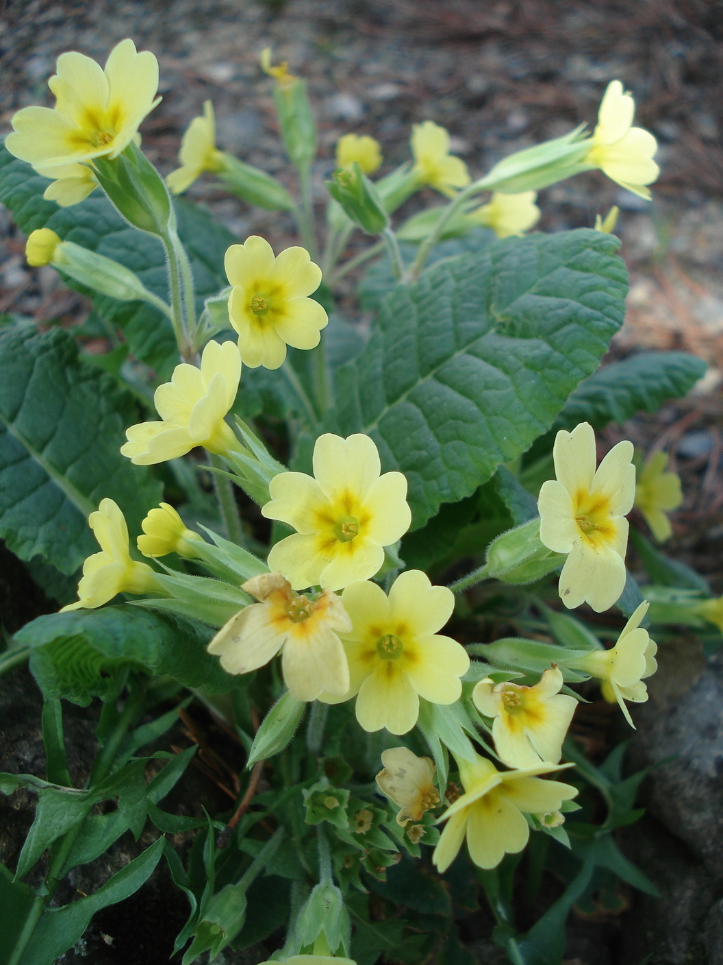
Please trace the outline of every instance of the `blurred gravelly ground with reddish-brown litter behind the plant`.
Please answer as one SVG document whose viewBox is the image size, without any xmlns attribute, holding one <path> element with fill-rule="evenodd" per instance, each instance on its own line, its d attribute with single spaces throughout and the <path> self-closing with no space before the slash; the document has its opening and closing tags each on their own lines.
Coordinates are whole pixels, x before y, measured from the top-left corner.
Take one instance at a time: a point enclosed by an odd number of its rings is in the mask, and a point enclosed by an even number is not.
<svg viewBox="0 0 723 965">
<path fill-rule="evenodd" d="M 270 81 L 258 68 L 258 52 L 273 44 L 275 56 L 308 79 L 319 124 L 320 203 L 335 141 L 347 131 L 382 143 L 384 173 L 409 157 L 411 124 L 431 119 L 448 128 L 454 152 L 481 175 L 505 154 L 580 122 L 594 124 L 607 82 L 622 80 L 635 96 L 637 123 L 660 146 L 653 204 L 591 173 L 541 193 L 540 228 L 589 227 L 596 213 L 618 205 L 630 292 L 613 353 L 675 347 L 709 362 L 687 400 L 611 431 L 609 441 L 625 436 L 670 451 L 685 501 L 669 549 L 723 593 L 723 3 L 5 0 L 0 8 L 0 131 L 10 129 L 19 107 L 51 102 L 46 80 L 60 53 L 75 49 L 103 61 L 116 42 L 132 37 L 160 63 L 163 101 L 142 132 L 163 172 L 174 168 L 183 130 L 210 98 L 219 146 L 291 186 Z M 189 194 L 240 239 L 257 233 L 274 245 L 296 240 L 285 215 L 250 209 L 208 180 Z M 0 311 L 40 322 L 82 318 L 82 297 L 60 288 L 51 269 L 28 269 L 23 252 L 24 238 L 0 212 Z M 571 941 L 571 965 L 617 965 L 615 941 L 604 936 L 620 923 L 603 932 L 600 923 L 583 925 L 574 929 L 580 937 Z M 111 925 L 103 927 L 110 934 Z M 108 945 L 103 965 L 165 961 L 168 936 L 158 931 L 143 957 L 127 945 L 113 957 Z M 652 965 L 678 960 L 658 955 Z"/>
</svg>

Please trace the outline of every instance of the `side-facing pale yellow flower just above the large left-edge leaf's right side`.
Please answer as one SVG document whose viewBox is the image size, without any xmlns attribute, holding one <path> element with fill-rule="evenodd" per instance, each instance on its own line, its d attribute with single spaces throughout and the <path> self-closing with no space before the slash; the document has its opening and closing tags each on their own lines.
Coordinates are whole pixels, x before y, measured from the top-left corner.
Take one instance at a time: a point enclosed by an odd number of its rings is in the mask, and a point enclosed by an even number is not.
<svg viewBox="0 0 723 965">
<path fill-rule="evenodd" d="M 223 455 L 240 449 L 224 416 L 236 399 L 241 358 L 232 342 L 209 342 L 201 369 L 183 362 L 170 382 L 159 385 L 153 401 L 163 422 L 141 423 L 126 429 L 128 441 L 120 452 L 136 465 L 165 462 L 203 446 Z"/>
</svg>

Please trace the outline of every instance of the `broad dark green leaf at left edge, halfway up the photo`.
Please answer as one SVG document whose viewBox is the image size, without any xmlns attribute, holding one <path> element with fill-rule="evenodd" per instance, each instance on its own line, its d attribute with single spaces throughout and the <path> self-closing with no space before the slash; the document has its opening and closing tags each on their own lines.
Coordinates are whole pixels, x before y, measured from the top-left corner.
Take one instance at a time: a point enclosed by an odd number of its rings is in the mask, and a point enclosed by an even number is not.
<svg viewBox="0 0 723 965">
<path fill-rule="evenodd" d="M 88 516 L 106 496 L 140 532 L 162 490 L 120 455 L 137 417 L 130 393 L 82 362 L 63 329 L 0 329 L 0 537 L 13 553 L 75 572 L 97 551 Z"/>
</svg>

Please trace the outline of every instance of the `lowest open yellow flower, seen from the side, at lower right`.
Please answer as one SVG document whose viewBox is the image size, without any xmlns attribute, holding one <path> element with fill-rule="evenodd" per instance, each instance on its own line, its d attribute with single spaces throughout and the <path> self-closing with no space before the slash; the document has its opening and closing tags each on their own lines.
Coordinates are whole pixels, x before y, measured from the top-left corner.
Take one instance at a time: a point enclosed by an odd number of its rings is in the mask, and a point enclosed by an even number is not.
<svg viewBox="0 0 723 965">
<path fill-rule="evenodd" d="M 537 775 L 562 770 L 568 764 L 539 764 L 524 770 L 498 771 L 491 760 L 459 762 L 465 793 L 439 818 L 446 820 L 432 861 L 445 871 L 467 836 L 469 857 L 479 868 L 495 868 L 505 854 L 515 854 L 529 839 L 524 814 L 558 811 L 575 797 L 577 788 Z"/>
</svg>

